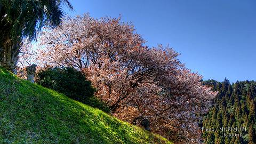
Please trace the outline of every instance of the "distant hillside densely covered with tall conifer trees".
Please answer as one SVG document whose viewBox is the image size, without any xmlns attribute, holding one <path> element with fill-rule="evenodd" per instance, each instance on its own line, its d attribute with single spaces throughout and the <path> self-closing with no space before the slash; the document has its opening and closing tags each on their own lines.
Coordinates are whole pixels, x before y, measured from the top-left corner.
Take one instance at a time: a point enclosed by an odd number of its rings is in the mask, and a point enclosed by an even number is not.
<svg viewBox="0 0 256 144">
<path fill-rule="evenodd" d="M 214 105 L 203 121 L 203 127 L 218 131 L 203 131 L 205 143 L 256 143 L 256 82 L 243 81 L 230 84 L 227 79 L 219 83 L 209 80 L 204 84 L 211 85 L 219 94 Z M 222 131 L 219 127 L 246 127 Z M 225 137 L 225 134 L 241 134 L 239 137 Z M 242 135 L 243 134 L 243 135 Z"/>
</svg>

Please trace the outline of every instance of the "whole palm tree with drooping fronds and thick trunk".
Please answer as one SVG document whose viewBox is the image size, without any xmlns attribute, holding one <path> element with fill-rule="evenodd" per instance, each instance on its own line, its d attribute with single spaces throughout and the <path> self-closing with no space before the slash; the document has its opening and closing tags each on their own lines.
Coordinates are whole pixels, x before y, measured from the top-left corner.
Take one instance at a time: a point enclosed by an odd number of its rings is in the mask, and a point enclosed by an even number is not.
<svg viewBox="0 0 256 144">
<path fill-rule="evenodd" d="M 43 27 L 61 24 L 68 0 L 1 0 L 0 66 L 14 71 L 24 39 L 33 41 Z"/>
</svg>

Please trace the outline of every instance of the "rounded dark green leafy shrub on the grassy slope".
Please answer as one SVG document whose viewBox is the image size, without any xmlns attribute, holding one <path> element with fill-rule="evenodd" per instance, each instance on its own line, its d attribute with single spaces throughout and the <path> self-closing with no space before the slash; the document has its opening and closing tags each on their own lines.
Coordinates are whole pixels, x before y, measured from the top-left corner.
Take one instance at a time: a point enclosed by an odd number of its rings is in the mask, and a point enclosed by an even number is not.
<svg viewBox="0 0 256 144">
<path fill-rule="evenodd" d="M 95 91 L 81 71 L 68 67 L 41 70 L 36 74 L 35 82 L 83 103 L 93 97 Z"/>
</svg>

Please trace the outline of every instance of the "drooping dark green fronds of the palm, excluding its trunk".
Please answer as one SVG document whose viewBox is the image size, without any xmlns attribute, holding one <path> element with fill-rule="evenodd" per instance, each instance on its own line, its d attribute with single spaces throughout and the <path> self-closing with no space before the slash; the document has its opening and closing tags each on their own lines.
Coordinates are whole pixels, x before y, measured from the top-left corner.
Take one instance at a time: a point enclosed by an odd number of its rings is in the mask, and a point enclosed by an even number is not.
<svg viewBox="0 0 256 144">
<path fill-rule="evenodd" d="M 68 0 L 1 0 L 0 20 L 9 22 L 10 35 L 33 40 L 44 26 L 57 27 L 61 24 L 64 12 L 62 6 L 73 10 Z"/>
</svg>

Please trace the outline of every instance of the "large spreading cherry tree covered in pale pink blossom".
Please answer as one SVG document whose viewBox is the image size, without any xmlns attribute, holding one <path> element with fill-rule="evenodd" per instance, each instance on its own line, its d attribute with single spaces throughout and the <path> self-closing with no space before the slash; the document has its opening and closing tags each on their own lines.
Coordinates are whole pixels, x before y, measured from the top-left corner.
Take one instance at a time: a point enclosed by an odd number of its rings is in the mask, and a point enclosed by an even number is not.
<svg viewBox="0 0 256 144">
<path fill-rule="evenodd" d="M 40 39 L 41 65 L 83 71 L 111 113 L 175 142 L 198 143 L 198 122 L 217 94 L 169 46 L 148 47 L 120 18 L 66 18 Z"/>
</svg>

